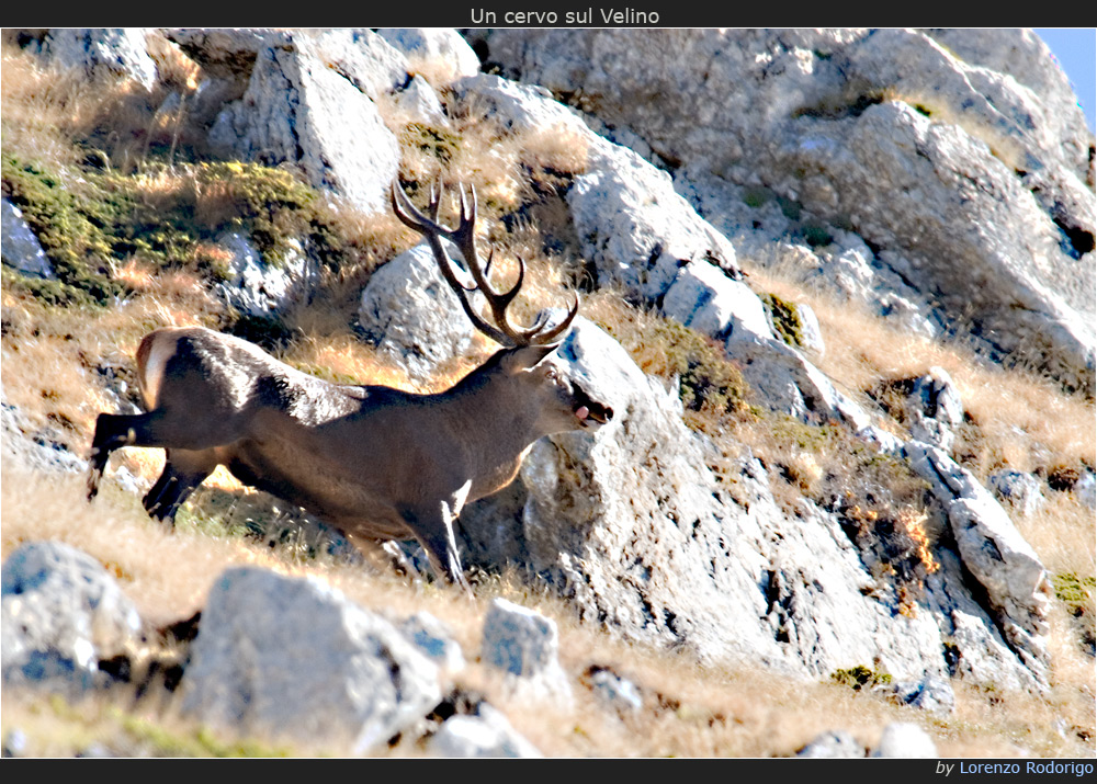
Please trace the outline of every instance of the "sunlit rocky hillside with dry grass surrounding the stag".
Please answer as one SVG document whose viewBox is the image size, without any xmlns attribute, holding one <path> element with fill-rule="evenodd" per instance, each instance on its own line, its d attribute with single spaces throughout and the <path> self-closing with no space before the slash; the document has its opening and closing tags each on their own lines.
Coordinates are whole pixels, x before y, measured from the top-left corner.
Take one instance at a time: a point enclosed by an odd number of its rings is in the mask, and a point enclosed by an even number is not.
<svg viewBox="0 0 1097 784">
<path fill-rule="evenodd" d="M 81 750 L 47 692 L 215 728 L 104 753 L 1094 753 L 1094 135 L 1031 32 L 5 36 L 5 753 Z M 87 505 L 151 328 L 412 390 L 491 352 L 394 180 L 475 186 L 522 315 L 579 292 L 618 412 L 465 509 L 473 603 L 227 474 L 169 535 L 157 451 Z"/>
</svg>

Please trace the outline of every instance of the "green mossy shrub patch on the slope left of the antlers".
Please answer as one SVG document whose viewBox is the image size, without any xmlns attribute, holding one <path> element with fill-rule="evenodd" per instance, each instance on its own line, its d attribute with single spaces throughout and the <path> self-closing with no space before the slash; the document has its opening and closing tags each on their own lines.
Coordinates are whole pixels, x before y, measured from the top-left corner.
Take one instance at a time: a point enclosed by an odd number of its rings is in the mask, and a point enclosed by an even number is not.
<svg viewBox="0 0 1097 784">
<path fill-rule="evenodd" d="M 127 261 L 151 270 L 190 270 L 212 280 L 228 274 L 223 232 L 249 237 L 278 265 L 310 242 L 321 260 L 344 240 L 316 192 L 290 172 L 257 163 L 151 166 L 125 175 L 72 171 L 3 157 L 3 192 L 23 213 L 54 264 L 56 281 L 12 277 L 12 284 L 57 304 L 106 305 L 129 289 Z"/>
</svg>

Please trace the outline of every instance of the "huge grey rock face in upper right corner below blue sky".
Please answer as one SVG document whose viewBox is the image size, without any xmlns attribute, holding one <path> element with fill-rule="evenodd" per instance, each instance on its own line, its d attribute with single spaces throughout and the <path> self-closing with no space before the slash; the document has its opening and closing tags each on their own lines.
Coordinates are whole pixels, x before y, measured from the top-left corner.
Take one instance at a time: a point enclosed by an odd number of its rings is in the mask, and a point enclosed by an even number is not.
<svg viewBox="0 0 1097 784">
<path fill-rule="evenodd" d="M 493 60 L 575 95 L 680 167 L 683 191 L 692 173 L 706 178 L 699 191 L 721 180 L 765 189 L 808 252 L 808 239 L 825 248 L 821 235 L 852 231 L 874 249 L 873 264 L 919 293 L 916 311 L 932 300 L 991 355 L 1042 357 L 1044 370 L 1092 394 L 1092 134 L 1031 33 L 485 37 Z M 1015 76 L 1024 63 L 1028 83 Z"/>
</svg>

